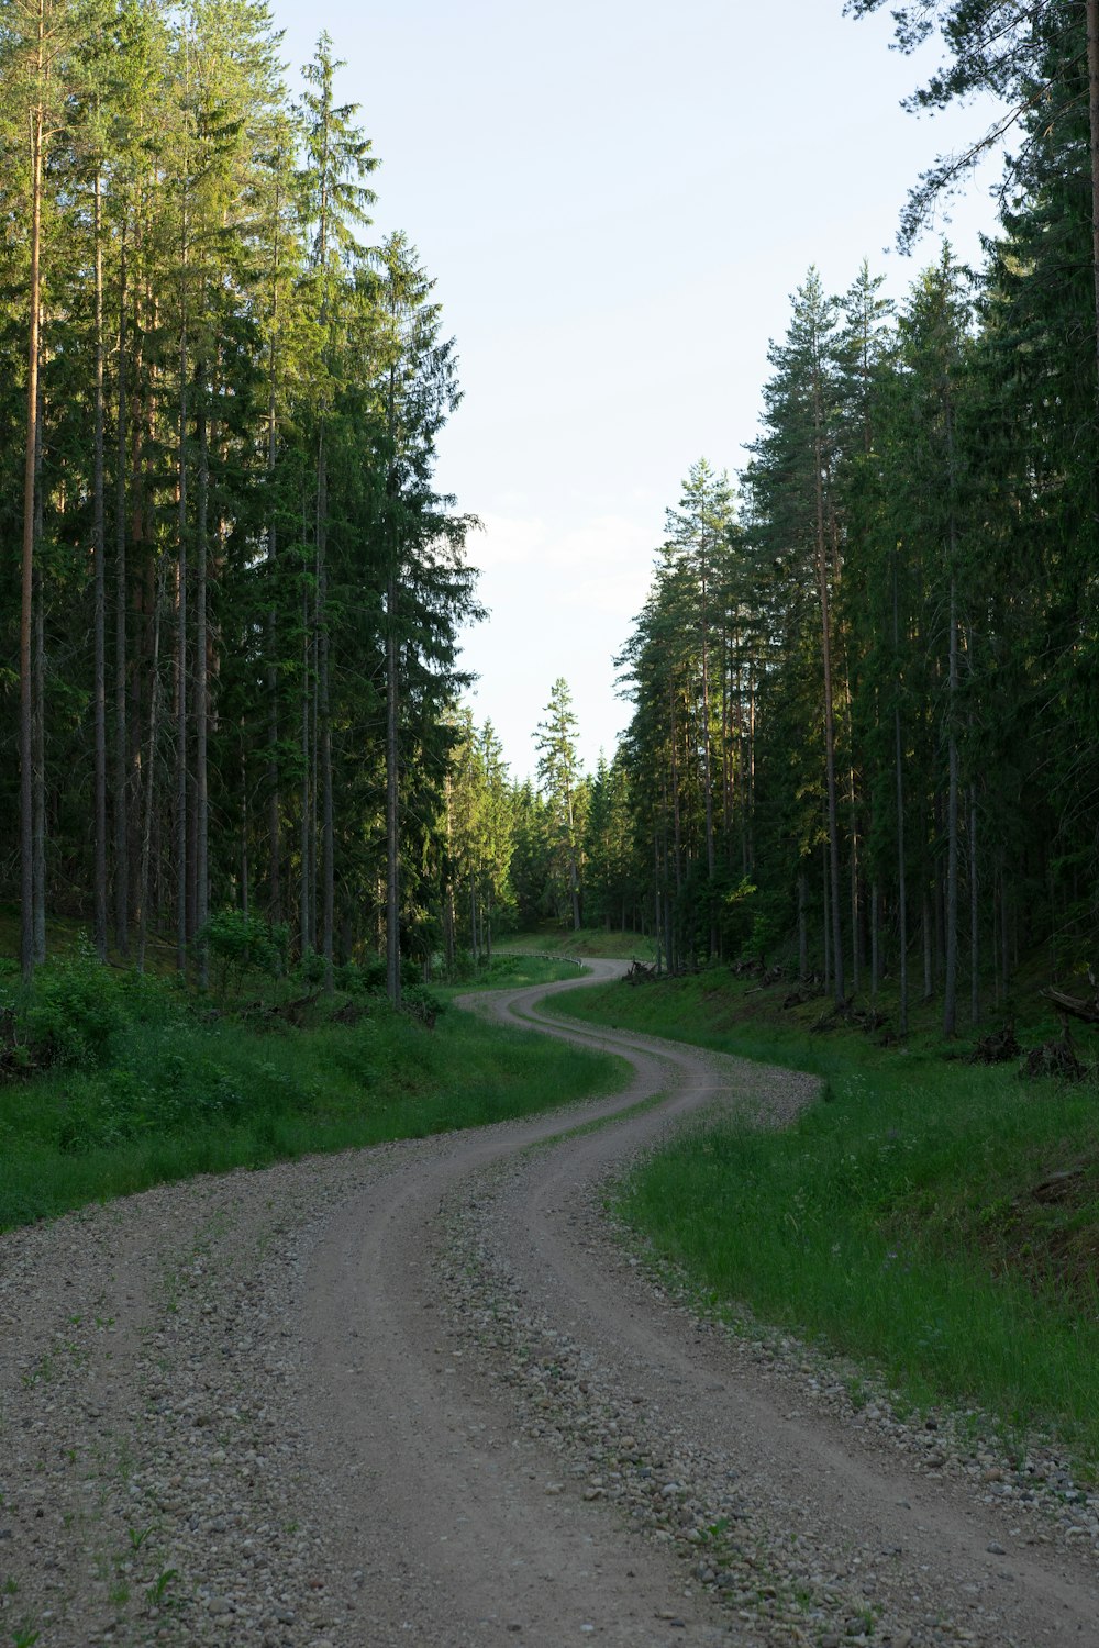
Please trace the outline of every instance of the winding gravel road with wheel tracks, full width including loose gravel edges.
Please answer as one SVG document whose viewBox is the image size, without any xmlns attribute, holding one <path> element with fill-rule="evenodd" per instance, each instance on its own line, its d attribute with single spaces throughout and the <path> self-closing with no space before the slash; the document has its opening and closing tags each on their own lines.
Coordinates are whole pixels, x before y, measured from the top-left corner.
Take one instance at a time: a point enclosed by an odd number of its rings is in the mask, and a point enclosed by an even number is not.
<svg viewBox="0 0 1099 1648">
<path fill-rule="evenodd" d="M 689 1112 L 778 1126 L 809 1078 L 545 994 L 478 1010 L 628 1091 L 0 1238 L 2 1648 L 1099 1648 L 1099 1498 L 1056 1458 L 855 1406 L 605 1218 Z"/>
</svg>

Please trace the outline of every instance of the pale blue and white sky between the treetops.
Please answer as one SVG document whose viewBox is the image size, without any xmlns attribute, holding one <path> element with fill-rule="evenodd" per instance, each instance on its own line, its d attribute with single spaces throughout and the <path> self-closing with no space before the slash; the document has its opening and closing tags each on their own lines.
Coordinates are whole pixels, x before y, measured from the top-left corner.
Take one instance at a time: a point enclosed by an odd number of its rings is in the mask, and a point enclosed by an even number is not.
<svg viewBox="0 0 1099 1648">
<path fill-rule="evenodd" d="M 908 186 L 987 124 L 900 101 L 934 46 L 890 49 L 842 0 L 272 0 L 293 84 L 323 26 L 381 160 L 376 234 L 437 280 L 465 397 L 437 481 L 489 610 L 463 638 L 478 723 L 514 778 L 568 682 L 588 770 L 629 720 L 613 658 L 690 465 L 745 465 L 766 351 L 816 265 L 863 259 L 901 300 L 938 255 L 893 250 Z M 979 260 L 995 165 L 946 232 Z"/>
</svg>

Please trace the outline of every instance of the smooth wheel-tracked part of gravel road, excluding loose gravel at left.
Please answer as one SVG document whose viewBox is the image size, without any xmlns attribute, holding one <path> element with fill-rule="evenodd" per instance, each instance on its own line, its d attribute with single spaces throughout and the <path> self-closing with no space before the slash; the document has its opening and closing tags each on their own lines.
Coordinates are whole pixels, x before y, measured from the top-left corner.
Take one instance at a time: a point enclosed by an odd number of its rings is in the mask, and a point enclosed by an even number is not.
<svg viewBox="0 0 1099 1648">
<path fill-rule="evenodd" d="M 339 1205 L 310 1261 L 311 1493 L 346 1575 L 338 1640 L 1099 1645 L 1094 1562 L 982 1503 L 951 1462 L 814 1407 L 804 1373 L 669 1305 L 600 1229 L 601 1178 L 664 1129 L 715 1103 L 788 1119 L 807 1078 L 562 1025 L 535 1005 L 547 994 L 476 1009 L 623 1053 L 628 1089 L 410 1155 Z M 685 1513 L 661 1515 L 664 1498 Z"/>
</svg>

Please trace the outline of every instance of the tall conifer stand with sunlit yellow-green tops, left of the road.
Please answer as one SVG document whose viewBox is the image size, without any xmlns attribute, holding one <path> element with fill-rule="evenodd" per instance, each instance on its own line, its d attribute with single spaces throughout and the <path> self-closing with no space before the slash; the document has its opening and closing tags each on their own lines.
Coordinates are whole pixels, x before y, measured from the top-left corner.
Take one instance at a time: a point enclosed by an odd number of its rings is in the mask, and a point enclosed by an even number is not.
<svg viewBox="0 0 1099 1648">
<path fill-rule="evenodd" d="M 18 0 L 0 21 L 3 883 L 96 951 L 208 974 L 232 908 L 366 939 L 400 990 L 475 608 L 433 488 L 458 402 L 432 279 L 321 35 L 264 3 Z"/>
</svg>

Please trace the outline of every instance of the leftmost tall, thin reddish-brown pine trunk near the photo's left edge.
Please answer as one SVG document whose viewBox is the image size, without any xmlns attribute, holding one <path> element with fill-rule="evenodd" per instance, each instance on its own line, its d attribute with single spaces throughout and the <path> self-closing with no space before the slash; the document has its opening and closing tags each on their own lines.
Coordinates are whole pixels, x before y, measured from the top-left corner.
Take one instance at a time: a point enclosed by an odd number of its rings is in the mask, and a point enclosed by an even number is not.
<svg viewBox="0 0 1099 1648">
<path fill-rule="evenodd" d="M 38 353 L 41 313 L 41 193 L 46 74 L 46 0 L 38 0 L 35 76 L 38 101 L 31 110 L 31 267 L 26 338 L 26 445 L 23 461 L 23 555 L 20 564 L 20 961 L 23 979 L 35 972 L 35 808 L 33 808 L 33 679 L 31 618 L 35 605 L 35 480 L 38 448 Z"/>
</svg>

